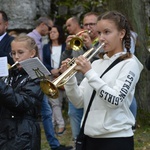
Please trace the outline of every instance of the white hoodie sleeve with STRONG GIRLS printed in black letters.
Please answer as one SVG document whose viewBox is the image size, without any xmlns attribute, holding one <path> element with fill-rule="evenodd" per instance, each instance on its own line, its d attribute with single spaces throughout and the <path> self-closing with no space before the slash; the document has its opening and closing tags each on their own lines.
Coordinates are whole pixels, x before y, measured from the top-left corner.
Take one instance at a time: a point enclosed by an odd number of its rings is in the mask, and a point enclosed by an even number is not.
<svg viewBox="0 0 150 150">
<path fill-rule="evenodd" d="M 135 87 L 140 78 L 142 69 L 143 65 L 141 63 L 130 59 L 117 64 L 117 66 L 109 70 L 103 78 L 100 78 L 92 69 L 87 72 L 85 76 L 90 86 L 96 90 L 99 98 L 103 100 L 107 106 L 116 108 L 122 106 L 126 99 L 133 99 Z M 115 81 L 111 82 L 113 76 L 115 77 Z M 107 80 L 110 81 L 107 82 Z"/>
</svg>

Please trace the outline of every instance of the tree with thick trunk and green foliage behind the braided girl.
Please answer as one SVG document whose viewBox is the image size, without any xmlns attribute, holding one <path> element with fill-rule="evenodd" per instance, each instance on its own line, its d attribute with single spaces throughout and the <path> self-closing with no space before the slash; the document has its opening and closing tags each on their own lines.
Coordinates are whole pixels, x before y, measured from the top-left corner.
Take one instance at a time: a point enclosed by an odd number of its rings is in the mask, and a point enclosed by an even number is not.
<svg viewBox="0 0 150 150">
<path fill-rule="evenodd" d="M 62 9 L 62 10 L 61 10 Z M 148 18 L 145 14 L 145 1 L 143 0 L 55 0 L 52 1 L 53 18 L 57 24 L 64 25 L 65 21 L 75 15 L 82 20 L 83 15 L 89 11 L 102 13 L 106 10 L 117 10 L 127 16 L 133 29 L 138 34 L 135 55 L 144 65 L 148 46 Z M 150 45 L 150 43 L 149 43 Z M 136 99 L 138 107 L 150 112 L 150 76 L 145 68 L 142 71 L 140 80 L 136 88 Z"/>
</svg>

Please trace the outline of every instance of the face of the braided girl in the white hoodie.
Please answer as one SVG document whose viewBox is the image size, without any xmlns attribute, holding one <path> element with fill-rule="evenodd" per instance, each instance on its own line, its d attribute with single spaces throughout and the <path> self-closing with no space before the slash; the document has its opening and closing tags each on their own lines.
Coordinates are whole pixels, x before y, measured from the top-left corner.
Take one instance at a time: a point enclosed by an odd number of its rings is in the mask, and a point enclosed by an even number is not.
<svg viewBox="0 0 150 150">
<path fill-rule="evenodd" d="M 99 42 L 105 43 L 104 50 L 109 56 L 123 51 L 122 39 L 125 30 L 118 30 L 114 21 L 102 19 L 97 23 L 97 31 L 99 33 Z"/>
</svg>

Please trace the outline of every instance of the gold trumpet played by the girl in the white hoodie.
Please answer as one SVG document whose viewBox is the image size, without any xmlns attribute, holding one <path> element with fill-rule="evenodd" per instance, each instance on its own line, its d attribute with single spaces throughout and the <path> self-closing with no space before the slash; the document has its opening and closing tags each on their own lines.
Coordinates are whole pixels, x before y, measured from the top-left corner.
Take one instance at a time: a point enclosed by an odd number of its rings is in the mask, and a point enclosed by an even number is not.
<svg viewBox="0 0 150 150">
<path fill-rule="evenodd" d="M 96 50 L 94 48 L 89 49 L 83 54 L 83 57 L 90 60 L 93 56 L 99 53 L 100 49 L 104 46 L 104 44 L 105 43 L 102 43 Z M 50 81 L 46 78 L 42 79 L 40 82 L 41 90 L 50 98 L 56 99 L 59 96 L 58 88 L 62 85 L 65 85 L 67 81 L 77 73 L 77 71 L 75 70 L 76 66 L 77 64 L 74 61 L 74 63 L 65 72 L 63 72 L 53 81 Z"/>
</svg>

